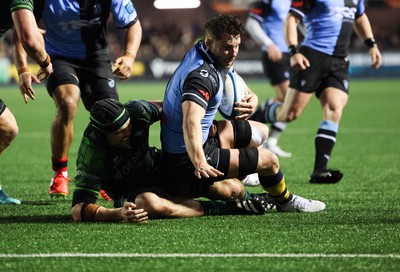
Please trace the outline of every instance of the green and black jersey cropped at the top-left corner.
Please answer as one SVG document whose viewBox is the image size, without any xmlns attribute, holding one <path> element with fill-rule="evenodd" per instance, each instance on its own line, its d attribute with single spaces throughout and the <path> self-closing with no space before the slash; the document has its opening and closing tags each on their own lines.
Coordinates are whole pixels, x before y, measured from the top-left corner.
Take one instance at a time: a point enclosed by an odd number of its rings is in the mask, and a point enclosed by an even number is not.
<svg viewBox="0 0 400 272">
<path fill-rule="evenodd" d="M 33 0 L 0 0 L 0 38 L 13 27 L 11 13 L 19 9 L 33 12 Z"/>
</svg>

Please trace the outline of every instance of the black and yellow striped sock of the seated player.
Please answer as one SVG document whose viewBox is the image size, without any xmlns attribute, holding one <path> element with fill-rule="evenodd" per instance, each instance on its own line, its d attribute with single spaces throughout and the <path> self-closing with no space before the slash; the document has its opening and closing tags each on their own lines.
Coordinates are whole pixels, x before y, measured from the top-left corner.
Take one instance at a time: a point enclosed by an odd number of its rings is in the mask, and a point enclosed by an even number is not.
<svg viewBox="0 0 400 272">
<path fill-rule="evenodd" d="M 279 204 L 285 204 L 292 200 L 293 195 L 289 192 L 285 184 L 285 178 L 282 171 L 279 169 L 278 173 L 273 176 L 261 176 L 260 183 L 262 187 L 271 195 L 273 199 Z"/>
</svg>

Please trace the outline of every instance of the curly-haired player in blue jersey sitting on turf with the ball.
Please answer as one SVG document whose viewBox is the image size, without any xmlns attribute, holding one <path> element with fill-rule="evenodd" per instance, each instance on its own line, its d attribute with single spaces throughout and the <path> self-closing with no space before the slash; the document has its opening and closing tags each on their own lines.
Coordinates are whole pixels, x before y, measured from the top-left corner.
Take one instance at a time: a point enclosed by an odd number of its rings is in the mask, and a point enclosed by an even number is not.
<svg viewBox="0 0 400 272">
<path fill-rule="evenodd" d="M 256 107 L 254 94 L 236 105 L 244 118 L 214 123 L 223 75 L 236 59 L 244 31 L 235 16 L 213 16 L 205 24 L 204 38 L 186 53 L 169 80 L 161 122 L 165 187 L 186 197 L 243 199 L 246 194 L 237 178 L 258 173 L 278 211 L 322 211 L 324 203 L 288 191 L 277 156 L 261 147 L 267 127 L 245 120 Z"/>
</svg>

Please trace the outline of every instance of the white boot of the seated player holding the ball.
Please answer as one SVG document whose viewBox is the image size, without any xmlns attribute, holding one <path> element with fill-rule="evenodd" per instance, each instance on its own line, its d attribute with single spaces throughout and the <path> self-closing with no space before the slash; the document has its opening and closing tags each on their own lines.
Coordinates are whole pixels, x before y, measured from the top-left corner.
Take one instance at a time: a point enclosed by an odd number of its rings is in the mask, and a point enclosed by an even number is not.
<svg viewBox="0 0 400 272">
<path fill-rule="evenodd" d="M 276 204 L 278 212 L 319 212 L 325 209 L 325 203 L 293 195 L 286 204 Z"/>
</svg>

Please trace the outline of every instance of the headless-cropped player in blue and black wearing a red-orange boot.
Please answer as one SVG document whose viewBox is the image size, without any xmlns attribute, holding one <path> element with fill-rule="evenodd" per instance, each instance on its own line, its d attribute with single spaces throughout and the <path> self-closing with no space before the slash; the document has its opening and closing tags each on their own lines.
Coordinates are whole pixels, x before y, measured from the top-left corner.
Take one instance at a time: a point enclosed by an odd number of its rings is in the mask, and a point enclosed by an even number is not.
<svg viewBox="0 0 400 272">
<path fill-rule="evenodd" d="M 41 15 L 46 27 L 46 49 L 54 73 L 47 90 L 56 105 L 51 124 L 53 177 L 49 195 L 68 195 L 68 151 L 73 120 L 82 102 L 90 110 L 97 100 L 118 99 L 114 75 L 128 79 L 138 52 L 142 28 L 130 0 L 46 0 Z M 110 17 L 125 31 L 124 52 L 113 62 L 107 53 L 106 24 Z"/>
</svg>

